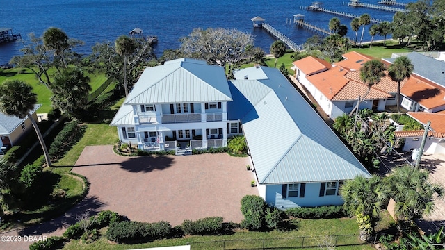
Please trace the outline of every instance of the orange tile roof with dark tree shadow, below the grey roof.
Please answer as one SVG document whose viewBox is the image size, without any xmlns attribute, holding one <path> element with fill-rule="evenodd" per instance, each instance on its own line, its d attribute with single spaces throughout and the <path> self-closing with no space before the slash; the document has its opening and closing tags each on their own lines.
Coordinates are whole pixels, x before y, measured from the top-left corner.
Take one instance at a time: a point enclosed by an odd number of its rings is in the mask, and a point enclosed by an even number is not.
<svg viewBox="0 0 445 250">
<path fill-rule="evenodd" d="M 419 76 L 411 76 L 401 88 L 401 93 L 428 109 L 445 105 L 445 91 Z"/>
</svg>

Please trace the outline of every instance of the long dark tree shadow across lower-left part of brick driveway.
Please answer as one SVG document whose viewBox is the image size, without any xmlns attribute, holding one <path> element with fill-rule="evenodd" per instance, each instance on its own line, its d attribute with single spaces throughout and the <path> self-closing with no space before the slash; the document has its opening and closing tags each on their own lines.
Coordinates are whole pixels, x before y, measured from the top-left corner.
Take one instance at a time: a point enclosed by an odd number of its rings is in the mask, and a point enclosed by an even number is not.
<svg viewBox="0 0 445 250">
<path fill-rule="evenodd" d="M 100 201 L 95 196 L 86 197 L 64 215 L 56 219 L 51 219 L 48 222 L 42 222 L 41 224 L 24 228 L 22 231 L 19 231 L 19 235 L 42 235 L 44 233 L 52 233 L 58 229 L 67 228 L 78 222 L 76 216 L 86 212 L 88 212 L 90 216 L 97 215 L 101 208 L 106 205 L 106 203 Z"/>
</svg>

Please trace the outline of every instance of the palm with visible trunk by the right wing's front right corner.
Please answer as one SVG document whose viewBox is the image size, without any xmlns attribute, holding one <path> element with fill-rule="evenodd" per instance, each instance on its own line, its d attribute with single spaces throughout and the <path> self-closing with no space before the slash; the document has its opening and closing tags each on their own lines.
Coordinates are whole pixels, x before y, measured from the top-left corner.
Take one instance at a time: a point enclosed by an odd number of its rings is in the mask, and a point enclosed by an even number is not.
<svg viewBox="0 0 445 250">
<path fill-rule="evenodd" d="M 341 185 L 340 194 L 344 201 L 344 208 L 350 215 L 357 216 L 360 235 L 366 240 L 370 234 L 374 233 L 380 210 L 389 198 L 387 186 L 380 176 L 372 175 L 371 178 L 356 176 Z"/>
</svg>

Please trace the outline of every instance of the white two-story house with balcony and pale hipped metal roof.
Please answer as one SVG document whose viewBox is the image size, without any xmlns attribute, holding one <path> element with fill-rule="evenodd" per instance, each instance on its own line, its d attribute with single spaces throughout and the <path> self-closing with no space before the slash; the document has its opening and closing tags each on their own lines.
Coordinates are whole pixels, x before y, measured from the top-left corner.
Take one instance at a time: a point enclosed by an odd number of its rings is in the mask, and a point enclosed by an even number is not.
<svg viewBox="0 0 445 250">
<path fill-rule="evenodd" d="M 205 61 L 181 58 L 147 67 L 115 115 L 122 142 L 143 150 L 227 146 L 227 137 L 241 133 L 237 120 L 227 119 L 232 101 L 225 72 Z"/>
</svg>

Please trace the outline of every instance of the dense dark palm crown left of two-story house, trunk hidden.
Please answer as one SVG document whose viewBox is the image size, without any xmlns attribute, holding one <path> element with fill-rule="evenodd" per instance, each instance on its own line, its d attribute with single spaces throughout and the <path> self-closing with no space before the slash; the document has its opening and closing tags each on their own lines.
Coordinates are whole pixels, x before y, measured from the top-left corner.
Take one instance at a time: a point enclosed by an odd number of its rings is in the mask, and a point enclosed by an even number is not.
<svg viewBox="0 0 445 250">
<path fill-rule="evenodd" d="M 77 67 L 63 70 L 51 85 L 52 103 L 70 117 L 76 117 L 79 115 L 77 111 L 86 109 L 88 93 L 91 90 L 89 81 L 90 78 L 84 76 L 82 70 Z"/>
</svg>

